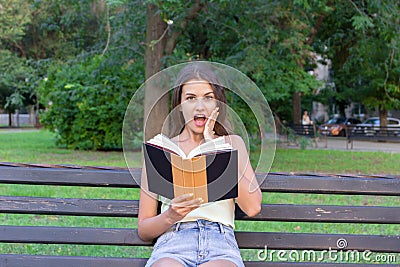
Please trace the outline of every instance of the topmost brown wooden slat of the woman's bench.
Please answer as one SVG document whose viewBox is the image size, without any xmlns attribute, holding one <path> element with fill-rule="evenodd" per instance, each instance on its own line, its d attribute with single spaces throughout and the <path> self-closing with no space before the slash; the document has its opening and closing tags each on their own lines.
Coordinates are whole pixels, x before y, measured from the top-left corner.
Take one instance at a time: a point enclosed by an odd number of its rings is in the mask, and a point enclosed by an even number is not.
<svg viewBox="0 0 400 267">
<path fill-rule="evenodd" d="M 140 169 L 131 170 L 140 177 Z M 258 173 L 263 192 L 400 196 L 399 178 Z M 128 170 L 21 168 L 0 166 L 0 183 L 138 188 Z"/>
</svg>

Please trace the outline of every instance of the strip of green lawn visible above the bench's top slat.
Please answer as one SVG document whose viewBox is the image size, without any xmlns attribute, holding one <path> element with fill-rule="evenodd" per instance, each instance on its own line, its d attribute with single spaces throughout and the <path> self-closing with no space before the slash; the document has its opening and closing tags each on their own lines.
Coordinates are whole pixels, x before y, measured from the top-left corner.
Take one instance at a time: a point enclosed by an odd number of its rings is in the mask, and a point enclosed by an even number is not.
<svg viewBox="0 0 400 267">
<path fill-rule="evenodd" d="M 140 153 L 134 154 L 141 166 Z M 339 150 L 276 150 L 272 172 L 400 174 L 400 153 Z M 122 152 L 74 151 L 56 147 L 48 131 L 0 131 L 0 162 L 126 167 Z M 266 171 L 262 167 L 261 171 Z"/>
</svg>

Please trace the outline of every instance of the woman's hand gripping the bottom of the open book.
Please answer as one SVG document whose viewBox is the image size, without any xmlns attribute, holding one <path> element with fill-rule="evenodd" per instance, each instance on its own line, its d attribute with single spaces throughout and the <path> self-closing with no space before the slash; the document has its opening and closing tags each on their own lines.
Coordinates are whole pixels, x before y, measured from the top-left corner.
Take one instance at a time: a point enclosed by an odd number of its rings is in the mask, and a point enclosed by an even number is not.
<svg viewBox="0 0 400 267">
<path fill-rule="evenodd" d="M 168 217 L 172 223 L 182 220 L 189 212 L 200 207 L 203 199 L 193 199 L 193 194 L 184 194 L 171 200 L 167 210 Z"/>
</svg>

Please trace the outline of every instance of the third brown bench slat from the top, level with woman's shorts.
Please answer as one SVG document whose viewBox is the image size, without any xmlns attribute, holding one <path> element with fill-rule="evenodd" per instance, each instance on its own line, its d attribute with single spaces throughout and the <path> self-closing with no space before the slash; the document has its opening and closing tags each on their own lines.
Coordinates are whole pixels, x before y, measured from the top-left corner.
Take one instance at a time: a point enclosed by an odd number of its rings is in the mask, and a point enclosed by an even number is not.
<svg viewBox="0 0 400 267">
<path fill-rule="evenodd" d="M 239 247 L 263 249 L 329 249 L 346 239 L 346 249 L 400 252 L 400 236 L 235 232 Z M 149 246 L 136 229 L 40 226 L 0 226 L 2 243 L 86 244 Z"/>
</svg>

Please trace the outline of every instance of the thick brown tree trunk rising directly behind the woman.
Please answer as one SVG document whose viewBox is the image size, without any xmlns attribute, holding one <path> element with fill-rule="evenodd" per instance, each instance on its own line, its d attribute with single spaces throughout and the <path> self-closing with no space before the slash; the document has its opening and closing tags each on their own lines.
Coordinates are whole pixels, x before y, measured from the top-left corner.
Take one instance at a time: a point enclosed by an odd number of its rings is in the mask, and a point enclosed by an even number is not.
<svg viewBox="0 0 400 267">
<path fill-rule="evenodd" d="M 146 80 L 161 70 L 161 59 L 164 55 L 165 38 L 161 38 L 167 25 L 162 20 L 158 9 L 153 4 L 147 5 L 146 19 Z M 168 94 L 162 95 L 162 88 L 146 86 L 144 100 L 144 138 L 155 136 L 161 132 L 169 111 Z"/>
</svg>

